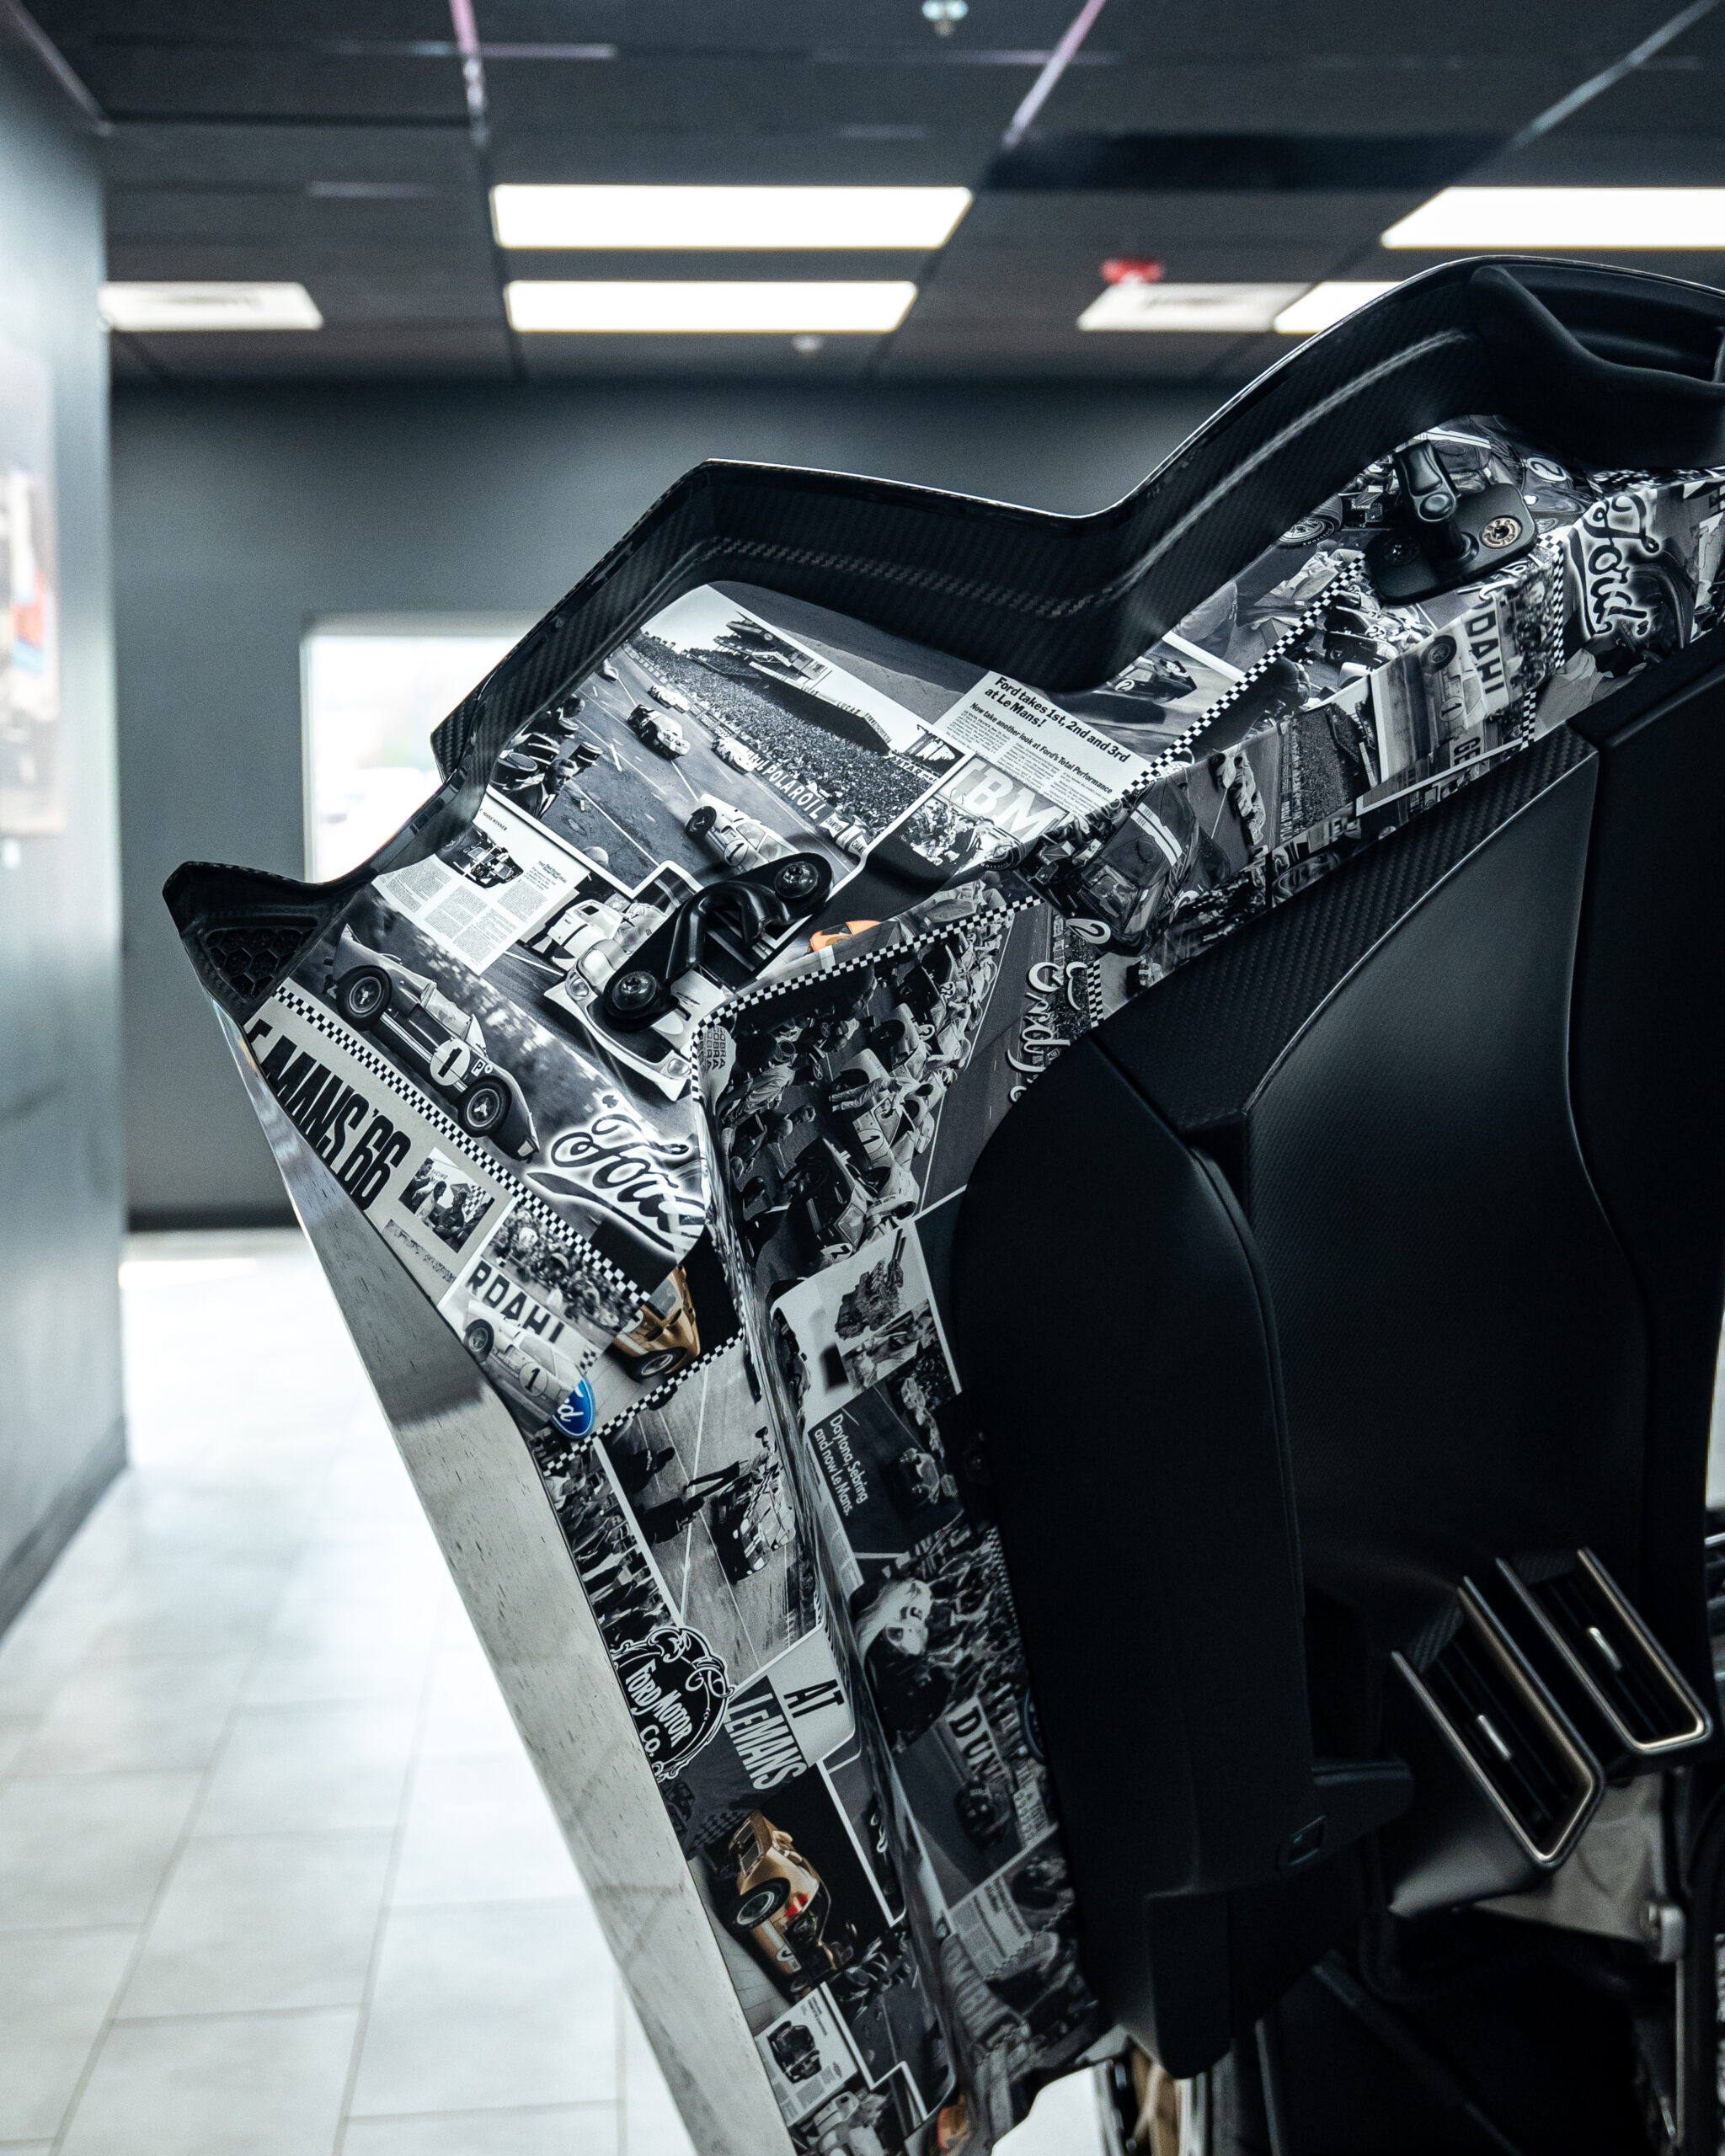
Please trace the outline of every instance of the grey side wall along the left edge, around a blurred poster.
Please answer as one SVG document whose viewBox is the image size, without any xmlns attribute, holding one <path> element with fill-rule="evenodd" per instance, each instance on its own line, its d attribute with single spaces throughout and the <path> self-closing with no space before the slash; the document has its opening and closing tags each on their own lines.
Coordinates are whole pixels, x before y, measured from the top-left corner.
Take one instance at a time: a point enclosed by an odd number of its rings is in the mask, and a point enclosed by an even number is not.
<svg viewBox="0 0 1725 2156">
<path fill-rule="evenodd" d="M 65 830 L 0 839 L 0 1626 L 125 1457 L 99 280 L 91 144 L 0 39 L 0 336 L 52 377 L 67 802 Z"/>
</svg>

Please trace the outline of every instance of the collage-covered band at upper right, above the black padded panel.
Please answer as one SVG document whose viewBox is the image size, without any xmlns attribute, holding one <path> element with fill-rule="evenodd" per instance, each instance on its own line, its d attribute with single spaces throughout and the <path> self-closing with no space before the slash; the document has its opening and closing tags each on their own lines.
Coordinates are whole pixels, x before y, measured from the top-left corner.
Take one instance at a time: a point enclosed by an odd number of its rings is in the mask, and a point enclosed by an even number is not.
<svg viewBox="0 0 1725 2156">
<path fill-rule="evenodd" d="M 1570 472 L 1481 418 L 1427 440 L 1458 487 L 1514 489 L 1537 545 L 1455 591 L 1382 599 L 1402 543 L 1382 459 L 1113 683 L 1067 699 L 1145 757 L 1171 752 L 1130 815 L 1026 871 L 1091 936 L 1100 1013 L 1719 619 L 1725 472 Z"/>
</svg>

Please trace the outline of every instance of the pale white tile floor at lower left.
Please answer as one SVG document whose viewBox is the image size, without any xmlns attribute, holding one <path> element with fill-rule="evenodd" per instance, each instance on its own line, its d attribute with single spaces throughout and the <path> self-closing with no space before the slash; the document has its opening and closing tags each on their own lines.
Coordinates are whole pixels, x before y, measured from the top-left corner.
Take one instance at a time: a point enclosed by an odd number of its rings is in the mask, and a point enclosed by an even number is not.
<svg viewBox="0 0 1725 2156">
<path fill-rule="evenodd" d="M 132 1468 L 0 1641 L 0 2150 L 688 2156 L 304 1242 L 123 1283 Z"/>
</svg>

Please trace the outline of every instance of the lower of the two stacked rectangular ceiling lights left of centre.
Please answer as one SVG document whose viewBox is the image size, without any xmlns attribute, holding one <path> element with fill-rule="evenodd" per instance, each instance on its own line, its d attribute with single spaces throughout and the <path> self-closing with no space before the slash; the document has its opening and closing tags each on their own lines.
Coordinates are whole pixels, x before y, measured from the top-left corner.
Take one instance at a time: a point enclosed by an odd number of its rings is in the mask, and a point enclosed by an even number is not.
<svg viewBox="0 0 1725 2156">
<path fill-rule="evenodd" d="M 556 282 L 520 280 L 505 289 L 515 330 L 636 334 L 817 334 L 897 330 L 916 298 L 908 282 Z"/>
</svg>

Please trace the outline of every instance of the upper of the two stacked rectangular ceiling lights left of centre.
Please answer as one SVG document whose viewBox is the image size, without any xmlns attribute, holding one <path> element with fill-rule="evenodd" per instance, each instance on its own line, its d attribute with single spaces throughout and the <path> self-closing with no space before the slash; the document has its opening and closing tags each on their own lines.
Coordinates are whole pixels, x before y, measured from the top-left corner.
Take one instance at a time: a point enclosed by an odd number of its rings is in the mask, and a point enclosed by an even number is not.
<svg viewBox="0 0 1725 2156">
<path fill-rule="evenodd" d="M 492 188 L 500 248 L 938 248 L 968 188 Z"/>
</svg>

